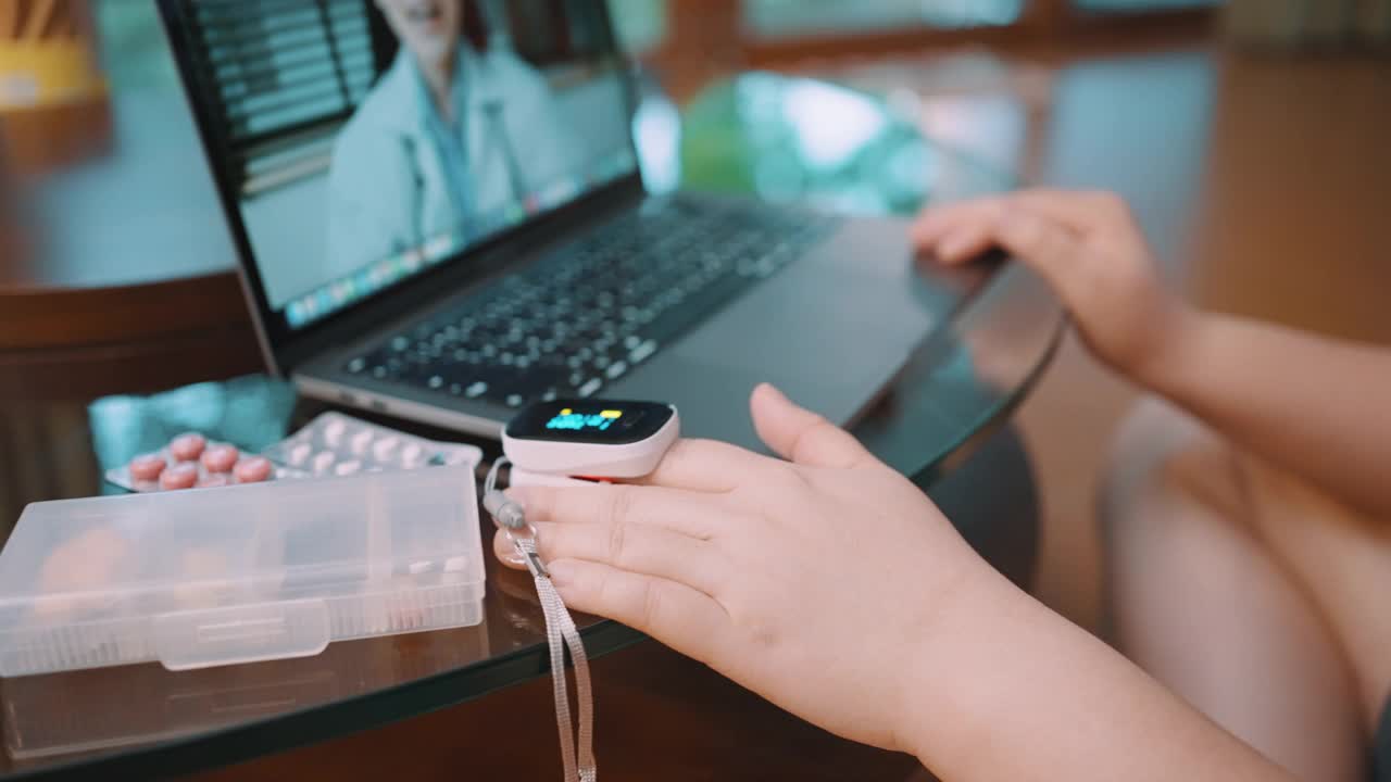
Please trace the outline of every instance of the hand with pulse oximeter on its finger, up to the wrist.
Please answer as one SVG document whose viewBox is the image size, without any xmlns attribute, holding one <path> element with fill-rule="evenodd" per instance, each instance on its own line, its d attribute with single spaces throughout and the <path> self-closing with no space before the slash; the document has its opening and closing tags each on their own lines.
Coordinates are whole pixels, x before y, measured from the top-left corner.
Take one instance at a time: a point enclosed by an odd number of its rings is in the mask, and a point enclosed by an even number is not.
<svg viewBox="0 0 1391 782">
<path fill-rule="evenodd" d="M 509 494 L 572 608 L 828 731 L 914 751 L 904 731 L 925 647 L 950 632 L 958 596 L 1002 579 L 846 431 L 771 385 L 754 391 L 753 416 L 789 461 L 684 440 L 641 486 Z"/>
</svg>

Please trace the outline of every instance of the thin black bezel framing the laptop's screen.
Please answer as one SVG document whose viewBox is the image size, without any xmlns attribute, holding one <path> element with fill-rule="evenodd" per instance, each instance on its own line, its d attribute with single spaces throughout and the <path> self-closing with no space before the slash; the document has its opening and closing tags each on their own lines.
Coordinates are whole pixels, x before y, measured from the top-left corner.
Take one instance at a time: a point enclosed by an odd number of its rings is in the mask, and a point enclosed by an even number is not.
<svg viewBox="0 0 1391 782">
<path fill-rule="evenodd" d="M 601 14 L 602 25 L 613 47 L 615 57 L 620 63 L 625 63 L 623 67 L 618 68 L 618 75 L 622 81 L 629 127 L 632 127 L 632 118 L 637 110 L 637 85 L 632 68 L 626 65 L 626 53 L 618 45 L 608 3 L 595 0 L 594 4 Z M 353 302 L 314 323 L 291 328 L 284 312 L 273 308 L 267 296 L 250 237 L 242 220 L 241 202 L 235 191 L 235 179 L 231 175 L 230 161 L 218 160 L 217 150 L 223 147 L 218 143 L 221 129 L 210 102 L 199 97 L 200 93 L 216 88 L 214 85 L 198 83 L 195 70 L 188 67 L 193 57 L 196 57 L 198 50 L 189 35 L 192 25 L 185 18 L 184 0 L 157 0 L 157 6 L 164 35 L 174 56 L 179 79 L 184 83 L 185 97 L 193 114 L 199 141 L 203 145 L 218 200 L 221 202 L 223 213 L 236 248 L 242 289 L 252 310 L 263 352 L 271 365 L 271 370 L 278 376 L 289 376 L 295 366 L 320 351 L 355 340 L 374 324 L 402 317 L 412 309 L 423 306 L 427 299 L 438 298 L 442 291 L 458 292 L 483 278 L 505 273 L 508 267 L 522 263 L 520 253 L 499 250 L 523 242 L 526 237 L 536 237 L 538 234 L 549 235 L 551 231 L 547 230 L 549 227 L 572 223 L 584 214 L 591 214 L 602 209 L 605 205 L 641 198 L 645 192 L 641 171 L 634 164 L 632 173 L 619 177 L 613 182 L 581 193 L 569 203 L 502 230 L 481 242 L 462 249 L 434 267 L 421 270 L 388 289 Z M 636 161 L 638 157 L 636 139 L 632 132 L 627 134 L 627 146 Z"/>
</svg>

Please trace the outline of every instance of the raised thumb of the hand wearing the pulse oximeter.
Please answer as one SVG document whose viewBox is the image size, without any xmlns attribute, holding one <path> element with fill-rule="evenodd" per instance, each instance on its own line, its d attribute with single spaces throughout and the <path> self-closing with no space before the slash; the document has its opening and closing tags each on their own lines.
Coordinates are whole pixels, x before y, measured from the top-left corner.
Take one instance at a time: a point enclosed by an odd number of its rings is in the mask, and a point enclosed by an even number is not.
<svg viewBox="0 0 1391 782">
<path fill-rule="evenodd" d="M 750 399 L 758 437 L 778 455 L 811 468 L 854 468 L 874 456 L 849 431 L 798 408 L 764 383 Z"/>
</svg>

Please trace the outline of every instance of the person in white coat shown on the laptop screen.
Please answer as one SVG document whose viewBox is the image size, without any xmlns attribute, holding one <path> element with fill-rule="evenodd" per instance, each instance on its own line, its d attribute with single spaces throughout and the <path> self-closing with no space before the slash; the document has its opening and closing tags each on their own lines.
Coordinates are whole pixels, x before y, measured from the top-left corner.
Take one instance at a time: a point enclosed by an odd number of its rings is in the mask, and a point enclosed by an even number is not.
<svg viewBox="0 0 1391 782">
<path fill-rule="evenodd" d="M 545 78 L 513 51 L 474 51 L 462 0 L 374 0 L 401 42 L 334 145 L 328 264 L 351 273 L 427 239 L 470 241 L 583 164 Z"/>
</svg>

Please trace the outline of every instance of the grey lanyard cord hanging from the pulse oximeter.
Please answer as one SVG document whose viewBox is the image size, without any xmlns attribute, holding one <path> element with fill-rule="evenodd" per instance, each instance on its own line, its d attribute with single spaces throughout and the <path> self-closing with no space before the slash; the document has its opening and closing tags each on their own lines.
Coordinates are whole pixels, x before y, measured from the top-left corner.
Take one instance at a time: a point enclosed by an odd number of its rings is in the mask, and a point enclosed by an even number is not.
<svg viewBox="0 0 1391 782">
<path fill-rule="evenodd" d="M 492 515 L 498 530 L 508 536 L 517 554 L 526 559 L 527 570 L 536 580 L 536 594 L 545 615 L 545 640 L 551 647 L 551 689 L 555 694 L 555 724 L 561 732 L 565 782 L 595 782 L 598 768 L 594 763 L 594 692 L 590 687 L 590 661 L 584 654 L 580 630 L 565 608 L 561 593 L 555 591 L 551 573 L 541 564 L 536 547 L 536 527 L 526 522 L 520 506 L 497 490 L 498 470 L 505 463 L 508 458 L 501 456 L 488 470 L 488 479 L 483 486 L 483 505 Z M 565 678 L 566 647 L 574 662 L 574 694 L 580 707 L 577 728 L 570 717 L 570 693 Z M 577 753 L 576 744 L 579 744 Z"/>
</svg>

